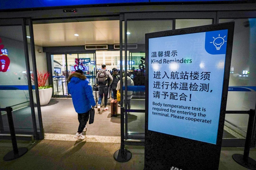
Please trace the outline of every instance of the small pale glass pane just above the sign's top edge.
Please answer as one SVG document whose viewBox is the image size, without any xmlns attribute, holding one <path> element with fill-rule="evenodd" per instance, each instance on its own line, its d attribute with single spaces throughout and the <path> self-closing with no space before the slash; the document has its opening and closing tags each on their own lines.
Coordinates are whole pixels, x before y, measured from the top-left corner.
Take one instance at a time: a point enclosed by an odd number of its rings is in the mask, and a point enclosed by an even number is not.
<svg viewBox="0 0 256 170">
<path fill-rule="evenodd" d="M 211 25 L 212 19 L 177 19 L 175 20 L 175 29 L 198 27 L 203 25 Z"/>
</svg>

